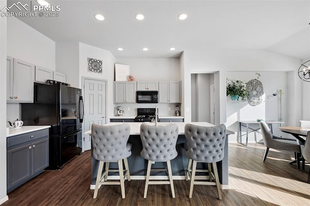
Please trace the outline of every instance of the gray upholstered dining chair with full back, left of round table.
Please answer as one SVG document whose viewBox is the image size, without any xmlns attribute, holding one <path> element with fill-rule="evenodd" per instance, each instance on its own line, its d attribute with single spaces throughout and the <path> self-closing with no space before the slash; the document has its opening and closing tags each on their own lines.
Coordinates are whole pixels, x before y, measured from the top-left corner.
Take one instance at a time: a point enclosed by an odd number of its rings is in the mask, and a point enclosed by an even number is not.
<svg viewBox="0 0 310 206">
<path fill-rule="evenodd" d="M 260 121 L 263 143 L 266 146 L 263 162 L 266 161 L 269 148 L 296 152 L 297 168 L 299 169 L 300 146 L 296 141 L 273 138 L 273 134 L 265 121 Z"/>
</svg>

